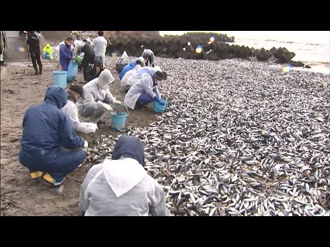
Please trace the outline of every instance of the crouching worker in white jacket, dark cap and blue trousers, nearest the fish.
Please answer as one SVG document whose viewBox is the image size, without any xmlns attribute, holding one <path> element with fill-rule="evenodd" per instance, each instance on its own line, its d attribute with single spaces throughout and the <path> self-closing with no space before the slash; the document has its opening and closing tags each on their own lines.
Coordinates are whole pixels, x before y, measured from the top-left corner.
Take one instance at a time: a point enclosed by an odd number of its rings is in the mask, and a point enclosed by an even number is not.
<svg viewBox="0 0 330 247">
<path fill-rule="evenodd" d="M 165 101 L 160 97 L 158 91 L 158 82 L 163 79 L 164 73 L 162 71 L 144 73 L 142 78 L 135 82 L 126 93 L 124 104 L 132 109 L 135 107 L 145 108 L 147 104 L 155 100 L 164 106 Z"/>
</svg>

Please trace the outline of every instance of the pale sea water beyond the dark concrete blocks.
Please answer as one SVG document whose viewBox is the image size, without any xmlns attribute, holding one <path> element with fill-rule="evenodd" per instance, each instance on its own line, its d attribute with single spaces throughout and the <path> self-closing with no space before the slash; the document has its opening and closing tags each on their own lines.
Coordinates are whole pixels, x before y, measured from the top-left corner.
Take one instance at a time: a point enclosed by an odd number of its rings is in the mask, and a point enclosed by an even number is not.
<svg viewBox="0 0 330 247">
<path fill-rule="evenodd" d="M 287 50 L 294 52 L 296 56 L 292 58 L 294 61 L 301 61 L 311 66 L 311 69 L 303 69 L 314 72 L 330 73 L 330 44 L 329 43 L 313 43 L 299 41 L 285 41 L 275 39 L 248 39 L 236 38 L 236 45 L 245 45 L 255 49 L 272 49 L 272 47 L 285 47 Z"/>
</svg>

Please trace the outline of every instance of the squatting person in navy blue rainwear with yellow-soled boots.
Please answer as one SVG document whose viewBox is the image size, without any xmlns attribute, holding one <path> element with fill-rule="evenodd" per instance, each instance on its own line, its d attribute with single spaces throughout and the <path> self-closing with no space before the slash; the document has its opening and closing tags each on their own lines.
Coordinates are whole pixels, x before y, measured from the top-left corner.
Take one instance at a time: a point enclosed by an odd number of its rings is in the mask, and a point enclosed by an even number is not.
<svg viewBox="0 0 330 247">
<path fill-rule="evenodd" d="M 32 179 L 42 179 L 53 187 L 62 185 L 65 176 L 87 156 L 79 149 L 87 148 L 87 141 L 76 135 L 69 117 L 61 110 L 66 104 L 65 89 L 50 86 L 43 104 L 31 106 L 23 117 L 19 162 L 28 167 Z"/>
</svg>

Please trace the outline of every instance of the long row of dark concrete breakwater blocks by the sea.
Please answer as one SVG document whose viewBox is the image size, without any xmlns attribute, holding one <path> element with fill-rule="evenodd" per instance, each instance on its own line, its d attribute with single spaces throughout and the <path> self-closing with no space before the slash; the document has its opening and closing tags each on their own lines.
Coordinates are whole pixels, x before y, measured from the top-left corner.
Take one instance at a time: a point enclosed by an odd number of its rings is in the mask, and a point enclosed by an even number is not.
<svg viewBox="0 0 330 247">
<path fill-rule="evenodd" d="M 228 43 L 214 40 L 212 43 L 201 41 L 200 38 L 191 39 L 176 37 L 148 37 L 148 36 L 112 36 L 108 45 L 109 53 L 117 52 L 122 54 L 126 51 L 129 56 L 141 56 L 145 48 L 152 49 L 155 56 L 166 58 L 185 58 L 197 60 L 221 60 L 230 58 L 256 58 L 266 61 L 272 56 L 278 63 L 291 63 L 295 67 L 303 67 L 302 62 L 294 62 L 292 58 L 296 56 L 294 52 L 288 51 L 285 47 L 270 50 L 244 45 L 229 45 Z M 189 43 L 188 43 L 189 42 Z M 111 45 L 110 45 L 111 43 Z M 199 48 L 199 50 L 197 49 Z"/>
</svg>

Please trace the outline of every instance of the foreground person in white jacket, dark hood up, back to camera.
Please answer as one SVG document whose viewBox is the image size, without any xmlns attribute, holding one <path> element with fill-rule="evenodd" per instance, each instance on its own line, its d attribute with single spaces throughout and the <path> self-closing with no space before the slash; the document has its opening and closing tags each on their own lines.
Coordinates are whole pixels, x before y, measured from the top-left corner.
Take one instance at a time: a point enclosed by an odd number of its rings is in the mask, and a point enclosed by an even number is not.
<svg viewBox="0 0 330 247">
<path fill-rule="evenodd" d="M 144 166 L 144 147 L 137 137 L 122 135 L 112 160 L 91 167 L 80 189 L 85 216 L 166 216 L 165 193 Z"/>
</svg>

